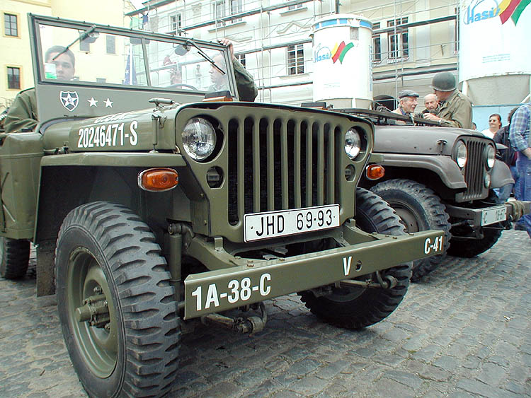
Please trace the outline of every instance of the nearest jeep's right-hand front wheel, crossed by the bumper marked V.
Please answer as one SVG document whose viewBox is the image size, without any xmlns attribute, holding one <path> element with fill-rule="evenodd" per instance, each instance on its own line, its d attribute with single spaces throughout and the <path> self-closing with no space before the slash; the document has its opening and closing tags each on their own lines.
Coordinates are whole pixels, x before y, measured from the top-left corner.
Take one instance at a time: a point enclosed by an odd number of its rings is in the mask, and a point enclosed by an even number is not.
<svg viewBox="0 0 531 398">
<path fill-rule="evenodd" d="M 365 232 L 401 235 L 404 226 L 393 209 L 377 195 L 366 189 L 356 189 L 356 225 Z M 312 291 L 300 293 L 302 301 L 314 315 L 325 322 L 347 329 L 361 329 L 388 317 L 398 307 L 409 286 L 411 264 L 380 272 L 383 279 L 393 276 L 393 288 L 331 288 L 331 293 L 316 297 Z M 377 281 L 376 274 L 364 275 L 360 280 Z"/>
</svg>

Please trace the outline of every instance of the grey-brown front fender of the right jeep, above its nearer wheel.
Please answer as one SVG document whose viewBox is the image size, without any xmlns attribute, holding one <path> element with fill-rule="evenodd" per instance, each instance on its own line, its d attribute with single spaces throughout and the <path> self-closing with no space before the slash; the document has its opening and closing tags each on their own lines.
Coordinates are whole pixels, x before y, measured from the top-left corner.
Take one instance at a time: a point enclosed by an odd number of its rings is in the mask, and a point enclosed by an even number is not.
<svg viewBox="0 0 531 398">
<path fill-rule="evenodd" d="M 440 180 L 450 189 L 466 189 L 467 183 L 459 166 L 449 156 L 409 155 L 403 153 L 384 153 L 380 164 L 399 168 L 421 168 L 435 172 Z M 498 162 L 496 162 L 498 163 Z"/>
</svg>

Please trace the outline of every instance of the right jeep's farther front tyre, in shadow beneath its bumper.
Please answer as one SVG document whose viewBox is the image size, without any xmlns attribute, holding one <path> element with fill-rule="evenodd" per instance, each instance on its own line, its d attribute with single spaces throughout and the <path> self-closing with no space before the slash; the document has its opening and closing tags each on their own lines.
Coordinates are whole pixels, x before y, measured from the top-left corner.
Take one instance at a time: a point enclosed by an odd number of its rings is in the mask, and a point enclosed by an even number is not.
<svg viewBox="0 0 531 398">
<path fill-rule="evenodd" d="M 483 252 L 486 252 L 491 247 L 493 247 L 496 242 L 498 242 L 498 239 L 501 237 L 501 232 L 503 230 L 503 227 L 499 223 L 493 224 L 489 227 L 481 228 L 481 233 L 483 233 L 483 239 L 459 238 L 459 235 L 468 235 L 469 233 L 472 233 L 472 228 L 461 227 L 460 229 L 457 229 L 455 231 L 456 235 L 452 236 L 452 240 L 450 240 L 448 254 L 456 257 L 470 258 L 477 256 L 478 254 L 481 254 Z M 457 235 L 457 233 L 459 233 L 459 235 Z"/>
</svg>

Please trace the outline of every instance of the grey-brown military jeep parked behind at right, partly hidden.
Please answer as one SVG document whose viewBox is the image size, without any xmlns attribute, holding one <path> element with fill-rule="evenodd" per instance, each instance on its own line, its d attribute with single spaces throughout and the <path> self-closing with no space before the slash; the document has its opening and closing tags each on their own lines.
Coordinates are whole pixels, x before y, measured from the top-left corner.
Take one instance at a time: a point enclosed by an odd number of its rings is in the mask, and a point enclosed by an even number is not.
<svg viewBox="0 0 531 398">
<path fill-rule="evenodd" d="M 375 124 L 373 158 L 385 175 L 364 175 L 360 186 L 385 199 L 407 231 L 445 233 L 442 253 L 413 263 L 413 281 L 433 271 L 446 253 L 474 257 L 489 250 L 510 221 L 530 212 L 529 201 L 498 203 L 492 189 L 514 181 L 507 165 L 496 160 L 494 141 L 478 131 L 385 111 L 339 112 Z"/>
</svg>

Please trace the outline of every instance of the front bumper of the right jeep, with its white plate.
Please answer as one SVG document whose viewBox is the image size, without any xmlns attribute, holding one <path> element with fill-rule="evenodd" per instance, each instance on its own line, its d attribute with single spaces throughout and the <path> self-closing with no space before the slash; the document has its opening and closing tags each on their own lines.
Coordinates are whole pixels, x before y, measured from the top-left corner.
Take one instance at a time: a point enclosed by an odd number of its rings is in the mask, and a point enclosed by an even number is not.
<svg viewBox="0 0 531 398">
<path fill-rule="evenodd" d="M 531 213 L 531 201 L 508 201 L 480 209 L 447 204 L 446 211 L 451 217 L 467 220 L 472 228 L 478 228 L 502 221 L 518 220 L 521 216 Z"/>
</svg>

